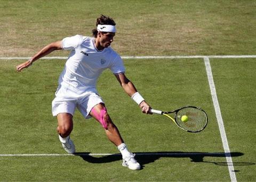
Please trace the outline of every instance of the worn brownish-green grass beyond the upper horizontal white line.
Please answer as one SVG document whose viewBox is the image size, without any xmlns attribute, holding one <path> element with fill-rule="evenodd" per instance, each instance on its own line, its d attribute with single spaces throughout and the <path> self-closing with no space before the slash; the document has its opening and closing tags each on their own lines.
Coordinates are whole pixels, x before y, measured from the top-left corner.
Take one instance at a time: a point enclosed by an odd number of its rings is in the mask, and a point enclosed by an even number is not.
<svg viewBox="0 0 256 182">
<path fill-rule="evenodd" d="M 90 36 L 102 13 L 117 23 L 113 47 L 121 55 L 251 55 L 255 8 L 255 1 L 1 1 L 0 56 L 33 56 L 52 41 Z"/>
</svg>

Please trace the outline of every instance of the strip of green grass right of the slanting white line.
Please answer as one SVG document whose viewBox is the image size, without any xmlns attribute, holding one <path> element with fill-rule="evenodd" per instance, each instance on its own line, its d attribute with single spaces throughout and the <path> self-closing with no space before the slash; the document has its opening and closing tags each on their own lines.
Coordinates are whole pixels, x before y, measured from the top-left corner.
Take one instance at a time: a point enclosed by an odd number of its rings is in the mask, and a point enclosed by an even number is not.
<svg viewBox="0 0 256 182">
<path fill-rule="evenodd" d="M 237 180 L 255 178 L 255 59 L 215 59 L 212 70 L 230 149 L 244 153 L 234 158 Z M 241 163 L 240 163 L 241 162 Z M 240 165 L 241 164 L 241 165 Z M 246 165 L 247 164 L 247 165 Z M 244 172 L 246 171 L 246 172 Z"/>
</svg>

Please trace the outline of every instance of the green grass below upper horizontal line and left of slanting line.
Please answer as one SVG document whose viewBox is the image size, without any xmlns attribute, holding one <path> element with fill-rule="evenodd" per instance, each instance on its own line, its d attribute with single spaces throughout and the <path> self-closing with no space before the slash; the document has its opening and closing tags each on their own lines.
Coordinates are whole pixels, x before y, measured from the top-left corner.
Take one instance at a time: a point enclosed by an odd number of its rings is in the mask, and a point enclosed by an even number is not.
<svg viewBox="0 0 256 182">
<path fill-rule="evenodd" d="M 1 116 L 4 116 L 1 128 L 1 133 L 4 133 L 2 145 L 6 146 L 1 150 L 2 153 L 65 153 L 58 141 L 55 132 L 56 121 L 51 116 L 50 109 L 63 60 L 41 60 L 22 73 L 14 71 L 13 66 L 18 64 L 17 61 L 8 63 L 1 62 L 3 68 L 1 75 L 15 79 L 12 79 L 11 83 L 10 79 L 4 80 L 3 85 L 6 86 L 1 92 L 1 96 L 5 96 L 2 97 L 4 105 L 1 108 Z M 156 64 L 159 64 L 157 68 L 154 67 Z M 204 132 L 189 134 L 161 116 L 143 115 L 139 107 L 122 91 L 115 77 L 107 71 L 100 77 L 98 89 L 105 99 L 110 116 L 131 151 L 139 153 L 223 152 L 202 60 L 175 59 L 167 62 L 166 60 L 140 60 L 138 62 L 134 59 L 125 62 L 125 65 L 127 76 L 134 80 L 134 84 L 138 85 L 137 88 L 155 108 L 173 109 L 194 104 L 206 109 L 210 118 L 209 126 Z M 182 72 L 181 69 L 186 69 L 187 72 Z M 158 76 L 161 79 L 154 80 L 155 76 L 150 74 L 154 71 L 159 73 Z M 166 74 L 174 71 L 176 74 Z M 138 77 L 141 79 L 136 79 Z M 14 85 L 18 89 L 14 90 Z M 113 86 L 109 88 L 109 85 Z M 188 92 L 188 88 L 191 92 Z M 115 102 L 116 100 L 118 102 Z M 75 127 L 71 136 L 76 143 L 77 152 L 118 152 L 107 140 L 101 126 L 93 119 L 86 121 L 77 112 L 74 120 Z M 209 143 L 205 140 L 209 137 L 216 140 Z M 123 168 L 120 157 L 85 159 L 81 157 L 6 157 L 1 158 L 1 166 L 5 168 L 1 171 L 0 180 L 189 180 L 190 177 L 182 175 L 184 170 L 194 174 L 194 180 L 229 179 L 229 176 L 226 176 L 228 173 L 226 167 L 212 163 L 212 161 L 225 161 L 223 156 L 197 158 L 177 155 L 171 157 L 138 155 L 137 159 L 143 165 L 141 171 Z M 193 162 L 194 160 L 199 162 Z M 210 163 L 204 164 L 204 160 Z M 183 170 L 177 170 L 180 167 Z M 7 171 L 12 170 L 17 171 L 17 174 L 10 176 Z M 62 170 L 67 174 L 54 175 L 62 174 Z M 206 170 L 214 170 L 214 175 L 205 177 L 198 174 Z"/>
</svg>

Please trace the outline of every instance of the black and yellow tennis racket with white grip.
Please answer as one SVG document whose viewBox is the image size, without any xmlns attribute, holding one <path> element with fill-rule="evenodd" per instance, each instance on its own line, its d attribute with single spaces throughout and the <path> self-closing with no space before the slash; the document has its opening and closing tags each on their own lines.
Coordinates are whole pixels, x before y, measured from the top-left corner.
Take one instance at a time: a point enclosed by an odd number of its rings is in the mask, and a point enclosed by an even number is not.
<svg viewBox="0 0 256 182">
<path fill-rule="evenodd" d="M 191 133 L 201 132 L 208 123 L 206 112 L 203 109 L 195 106 L 186 106 L 169 112 L 151 109 L 150 112 L 153 114 L 166 116 L 181 129 Z M 170 114 L 174 114 L 174 119 L 170 116 Z M 182 116 L 187 116 L 188 120 L 186 122 L 182 122 Z"/>
</svg>

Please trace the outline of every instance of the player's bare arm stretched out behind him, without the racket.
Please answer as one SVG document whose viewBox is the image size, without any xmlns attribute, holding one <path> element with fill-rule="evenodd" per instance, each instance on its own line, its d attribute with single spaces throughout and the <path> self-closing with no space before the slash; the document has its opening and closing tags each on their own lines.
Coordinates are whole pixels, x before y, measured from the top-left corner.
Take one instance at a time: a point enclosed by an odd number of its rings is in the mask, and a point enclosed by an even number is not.
<svg viewBox="0 0 256 182">
<path fill-rule="evenodd" d="M 26 62 L 16 66 L 16 70 L 17 72 L 21 72 L 21 70 L 23 70 L 24 68 L 28 68 L 29 66 L 32 65 L 33 62 L 35 62 L 37 59 L 44 57 L 48 54 L 50 54 L 52 51 L 54 50 L 60 50 L 62 49 L 61 47 L 61 41 L 57 41 L 57 42 L 52 42 L 51 44 L 45 46 L 43 49 L 41 49 L 40 51 L 38 51 L 37 54 L 35 54 L 33 57 L 31 57 L 29 60 L 27 60 Z"/>
</svg>

